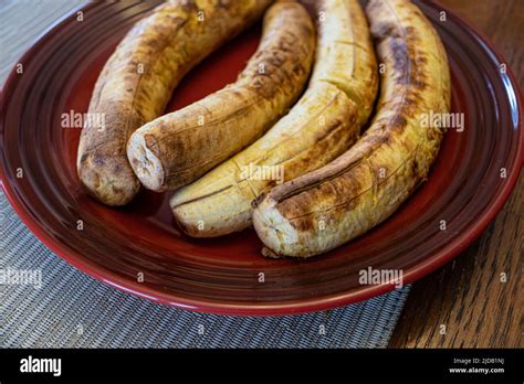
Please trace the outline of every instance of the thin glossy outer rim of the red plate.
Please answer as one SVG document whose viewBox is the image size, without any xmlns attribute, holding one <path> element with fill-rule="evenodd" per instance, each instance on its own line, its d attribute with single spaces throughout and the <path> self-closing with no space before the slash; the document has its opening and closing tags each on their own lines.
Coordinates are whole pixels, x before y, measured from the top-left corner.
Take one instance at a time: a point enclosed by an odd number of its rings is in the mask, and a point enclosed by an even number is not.
<svg viewBox="0 0 524 384">
<path fill-rule="evenodd" d="M 62 18 L 57 19 L 53 24 L 51 24 L 44 32 L 42 32 L 38 38 L 33 40 L 31 47 L 25 51 L 22 57 L 18 62 L 24 62 L 28 57 L 32 56 L 33 52 L 40 49 L 41 44 L 51 35 L 52 33 L 57 33 L 61 28 L 64 26 L 64 21 L 73 17 L 78 10 L 85 10 L 91 7 L 94 7 L 95 3 L 87 3 L 78 6 L 72 9 L 70 12 L 64 14 Z M 449 10 L 446 6 L 442 6 L 439 1 L 434 1 L 429 4 L 430 7 L 437 7 L 441 10 L 453 15 L 463 26 L 469 29 L 474 33 L 485 46 L 493 53 L 493 55 L 500 62 L 506 63 L 503 60 L 503 56 L 494 47 L 494 44 L 489 38 L 486 38 L 476 26 L 472 25 L 469 21 L 464 20 L 458 13 Z M 524 132 L 523 132 L 523 95 L 522 89 L 520 88 L 513 72 L 510 66 L 507 66 L 506 75 L 510 79 L 511 86 L 515 92 L 516 106 L 518 110 L 518 130 L 520 130 L 520 140 L 517 142 L 516 152 L 515 152 L 515 164 L 516 170 L 512 172 L 506 182 L 503 184 L 501 192 L 493 200 L 492 205 L 486 210 L 486 212 L 472 225 L 470 225 L 461 235 L 448 243 L 444 247 L 436 252 L 431 257 L 416 264 L 408 271 L 404 274 L 404 286 L 407 284 L 413 282 L 430 273 L 437 270 L 444 264 L 449 263 L 462 250 L 464 250 L 471 243 L 473 243 L 488 227 L 488 225 L 495 218 L 497 213 L 502 210 L 505 202 L 510 198 L 522 171 L 522 164 L 524 161 Z M 3 117 L 7 111 L 7 95 L 9 92 L 13 90 L 17 83 L 17 73 L 15 70 L 11 70 L 8 75 L 2 89 L 0 90 L 0 136 L 3 136 L 4 124 Z M 67 262 L 70 265 L 81 270 L 82 273 L 87 274 L 88 276 L 107 284 L 120 291 L 132 294 L 134 296 L 148 299 L 150 301 L 168 305 L 171 307 L 187 309 L 205 313 L 214 313 L 214 314 L 232 314 L 232 316 L 284 316 L 284 314 L 296 314 L 304 312 L 314 312 L 326 309 L 334 309 L 358 301 L 367 300 L 373 297 L 384 295 L 388 291 L 395 289 L 395 286 L 391 284 L 380 284 L 367 286 L 363 289 L 350 290 L 344 292 L 337 292 L 327 296 L 319 296 L 314 298 L 305 298 L 300 300 L 290 300 L 290 301 L 277 301 L 271 303 L 224 303 L 216 300 L 203 300 L 199 298 L 187 298 L 179 297 L 178 295 L 167 294 L 161 290 L 148 287 L 140 282 L 135 282 L 130 279 L 127 279 L 123 276 L 116 275 L 109 269 L 98 266 L 93 262 L 86 260 L 82 254 L 66 249 L 60 242 L 55 241 L 53 237 L 48 235 L 44 228 L 31 217 L 23 206 L 23 203 L 19 201 L 15 196 L 14 191 L 12 190 L 8 178 L 6 175 L 4 163 L 0 162 L 0 185 L 7 196 L 7 200 L 14 209 L 15 213 L 20 220 L 25 224 L 25 226 L 41 241 L 48 248 L 50 248 L 59 257 Z"/>
</svg>

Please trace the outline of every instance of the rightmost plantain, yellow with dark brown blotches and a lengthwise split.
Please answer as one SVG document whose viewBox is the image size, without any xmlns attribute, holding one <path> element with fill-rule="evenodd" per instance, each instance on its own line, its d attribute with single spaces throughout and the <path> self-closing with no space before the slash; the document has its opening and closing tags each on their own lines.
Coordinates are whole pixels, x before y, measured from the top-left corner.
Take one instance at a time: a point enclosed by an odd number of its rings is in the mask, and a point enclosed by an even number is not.
<svg viewBox="0 0 524 384">
<path fill-rule="evenodd" d="M 346 153 L 258 199 L 253 224 L 266 256 L 308 257 L 365 233 L 425 181 L 438 154 L 442 130 L 422 126 L 450 108 L 437 32 L 406 0 L 371 0 L 366 13 L 386 65 L 377 114 Z"/>
</svg>

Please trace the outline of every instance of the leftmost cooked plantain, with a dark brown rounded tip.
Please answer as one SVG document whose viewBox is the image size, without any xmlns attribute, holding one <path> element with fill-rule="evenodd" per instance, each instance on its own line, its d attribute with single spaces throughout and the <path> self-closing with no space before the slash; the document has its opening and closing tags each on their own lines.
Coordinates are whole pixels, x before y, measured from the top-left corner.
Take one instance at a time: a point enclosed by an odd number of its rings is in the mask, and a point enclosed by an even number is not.
<svg viewBox="0 0 524 384">
<path fill-rule="evenodd" d="M 82 131 L 77 173 L 107 205 L 139 190 L 126 154 L 129 136 L 158 117 L 184 75 L 258 19 L 271 0 L 169 0 L 140 20 L 118 44 L 96 82 L 90 114 L 104 125 Z M 102 120 L 102 119 L 101 119 Z"/>
</svg>

